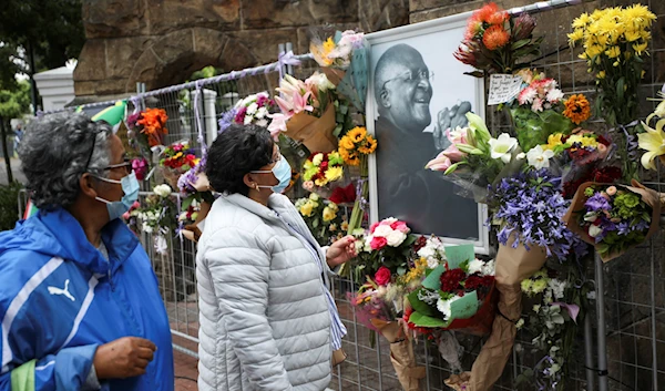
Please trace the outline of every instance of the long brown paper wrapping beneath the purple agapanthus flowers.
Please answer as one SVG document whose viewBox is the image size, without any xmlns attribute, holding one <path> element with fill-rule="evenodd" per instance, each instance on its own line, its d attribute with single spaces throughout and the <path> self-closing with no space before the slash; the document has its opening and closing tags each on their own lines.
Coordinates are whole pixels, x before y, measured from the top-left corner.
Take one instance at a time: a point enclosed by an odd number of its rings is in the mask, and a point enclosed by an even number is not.
<svg viewBox="0 0 665 391">
<path fill-rule="evenodd" d="M 513 234 L 505 246 L 499 246 L 497 254 L 495 279 L 500 295 L 492 332 L 473 362 L 471 372 L 446 380 L 446 384 L 454 390 L 491 390 L 510 358 L 516 335 L 515 322 L 522 312 L 520 284 L 540 270 L 548 258 L 545 250 L 536 246 L 531 246 L 530 250 L 521 244 L 512 248 L 515 239 Z"/>
</svg>

